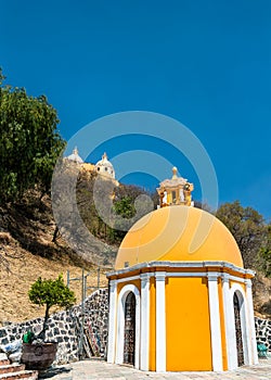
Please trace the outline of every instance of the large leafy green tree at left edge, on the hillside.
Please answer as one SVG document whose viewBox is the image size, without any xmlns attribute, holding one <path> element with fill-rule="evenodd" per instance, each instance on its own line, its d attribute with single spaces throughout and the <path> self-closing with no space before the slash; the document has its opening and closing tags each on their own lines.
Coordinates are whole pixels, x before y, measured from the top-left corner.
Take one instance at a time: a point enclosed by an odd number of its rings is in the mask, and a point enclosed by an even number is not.
<svg viewBox="0 0 271 380">
<path fill-rule="evenodd" d="M 46 193 L 65 142 L 56 111 L 44 96 L 3 85 L 0 69 L 0 202 L 16 200 L 28 189 Z"/>
</svg>

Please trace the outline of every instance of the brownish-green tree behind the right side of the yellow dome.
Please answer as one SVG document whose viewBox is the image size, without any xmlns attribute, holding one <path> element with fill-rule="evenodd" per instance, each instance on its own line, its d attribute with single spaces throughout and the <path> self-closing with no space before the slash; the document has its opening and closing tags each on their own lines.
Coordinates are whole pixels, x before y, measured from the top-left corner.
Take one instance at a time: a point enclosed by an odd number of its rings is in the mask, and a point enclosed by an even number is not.
<svg viewBox="0 0 271 380">
<path fill-rule="evenodd" d="M 243 207 L 238 201 L 235 201 L 222 204 L 216 216 L 234 236 L 245 267 L 256 268 L 257 256 L 267 236 L 262 215 L 253 207 Z"/>
</svg>

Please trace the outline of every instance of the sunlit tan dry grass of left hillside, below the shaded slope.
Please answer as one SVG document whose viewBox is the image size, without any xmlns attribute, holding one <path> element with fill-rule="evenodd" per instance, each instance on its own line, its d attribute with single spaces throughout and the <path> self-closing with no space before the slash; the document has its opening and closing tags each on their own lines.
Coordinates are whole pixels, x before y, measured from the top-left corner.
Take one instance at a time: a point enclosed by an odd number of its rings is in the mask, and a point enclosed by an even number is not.
<svg viewBox="0 0 271 380">
<path fill-rule="evenodd" d="M 74 262 L 64 254 L 60 254 L 54 258 L 40 257 L 24 249 L 18 249 L 17 245 L 13 245 L 13 242 L 5 246 L 5 252 L 4 259 L 9 261 L 9 270 L 4 267 L 7 262 L 2 263 L 0 271 L 0 325 L 7 321 L 21 321 L 43 316 L 44 308 L 33 305 L 27 296 L 30 284 L 39 276 L 54 279 L 63 274 L 66 281 L 67 270 L 70 273 L 70 278 L 79 278 L 83 266 L 91 273 L 91 276 L 88 276 L 88 286 L 96 286 L 95 268 L 88 263 Z M 9 255 L 14 257 L 11 258 Z M 80 283 L 80 281 L 70 282 L 70 289 L 75 291 L 78 302 L 81 297 Z M 105 275 L 102 273 L 101 286 L 106 284 Z"/>
</svg>

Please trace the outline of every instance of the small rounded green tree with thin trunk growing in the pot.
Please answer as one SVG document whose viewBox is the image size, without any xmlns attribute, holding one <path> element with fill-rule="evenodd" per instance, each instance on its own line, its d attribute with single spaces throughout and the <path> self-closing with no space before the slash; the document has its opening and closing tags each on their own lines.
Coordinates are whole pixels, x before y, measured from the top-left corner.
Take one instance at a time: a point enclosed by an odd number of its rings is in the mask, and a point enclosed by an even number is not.
<svg viewBox="0 0 271 380">
<path fill-rule="evenodd" d="M 44 338 L 49 312 L 52 306 L 69 308 L 76 302 L 75 293 L 65 286 L 62 275 L 56 280 L 42 280 L 41 277 L 31 284 L 28 292 L 30 302 L 39 306 L 46 306 L 46 315 L 39 338 Z"/>
</svg>

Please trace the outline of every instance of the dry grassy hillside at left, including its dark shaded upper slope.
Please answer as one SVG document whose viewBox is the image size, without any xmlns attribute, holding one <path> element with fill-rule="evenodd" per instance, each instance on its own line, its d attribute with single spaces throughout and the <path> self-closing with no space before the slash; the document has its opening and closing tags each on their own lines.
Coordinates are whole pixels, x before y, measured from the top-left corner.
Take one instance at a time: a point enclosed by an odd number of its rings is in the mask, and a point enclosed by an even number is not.
<svg viewBox="0 0 271 380">
<path fill-rule="evenodd" d="M 53 243 L 54 229 L 49 198 L 38 202 L 38 206 L 25 201 L 20 206 L 0 208 L 0 325 L 43 316 L 43 307 L 33 305 L 27 295 L 39 276 L 55 279 L 63 274 L 66 281 L 67 270 L 70 278 L 79 278 L 85 268 L 85 274 L 90 273 L 87 286 L 96 287 L 98 266 L 91 253 L 87 261 L 74 253 L 61 237 Z M 107 286 L 105 274 L 111 268 L 108 264 L 101 267 L 101 287 Z M 70 289 L 79 303 L 81 281 L 70 281 Z"/>
</svg>

